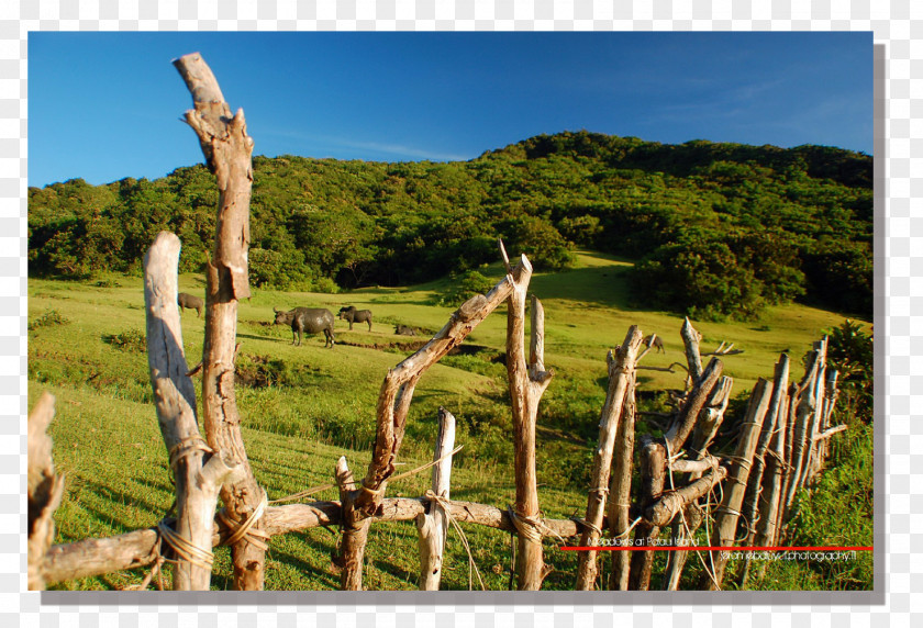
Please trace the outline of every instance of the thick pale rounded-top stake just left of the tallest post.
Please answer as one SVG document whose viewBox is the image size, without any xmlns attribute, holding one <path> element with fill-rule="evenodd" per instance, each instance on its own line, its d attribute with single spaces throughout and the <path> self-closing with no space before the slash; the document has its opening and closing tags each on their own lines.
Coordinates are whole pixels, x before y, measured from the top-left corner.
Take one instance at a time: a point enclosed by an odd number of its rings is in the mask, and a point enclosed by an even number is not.
<svg viewBox="0 0 923 628">
<path fill-rule="evenodd" d="M 180 556 L 174 570 L 177 591 L 208 591 L 211 582 L 211 537 L 218 494 L 236 467 L 211 451 L 199 435 L 196 389 L 186 373 L 182 329 L 177 309 L 179 238 L 162 232 L 144 256 L 144 301 L 147 314 L 147 361 L 160 434 L 176 481 L 175 531 L 201 550 L 192 560 Z"/>
</svg>

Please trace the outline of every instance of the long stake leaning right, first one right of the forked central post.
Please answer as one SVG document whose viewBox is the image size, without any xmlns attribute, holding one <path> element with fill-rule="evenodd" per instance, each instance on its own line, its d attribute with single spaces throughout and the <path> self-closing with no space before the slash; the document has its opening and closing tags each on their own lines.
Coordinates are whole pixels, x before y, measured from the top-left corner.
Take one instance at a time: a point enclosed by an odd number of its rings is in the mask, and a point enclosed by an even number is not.
<svg viewBox="0 0 923 628">
<path fill-rule="evenodd" d="M 602 535 L 602 515 L 605 511 L 605 496 L 609 493 L 609 474 L 612 467 L 612 456 L 615 449 L 615 436 L 619 431 L 619 419 L 625 401 L 627 388 L 633 382 L 637 352 L 641 348 L 643 334 L 636 325 L 629 328 L 622 345 L 610 351 L 609 389 L 605 403 L 602 406 L 602 417 L 599 422 L 599 447 L 593 455 L 593 468 L 590 474 L 590 495 L 587 502 L 587 516 L 583 519 L 585 529 L 580 537 L 581 547 L 594 547 Z M 577 591 L 592 591 L 596 586 L 598 565 L 594 550 L 582 551 L 577 565 Z"/>
</svg>

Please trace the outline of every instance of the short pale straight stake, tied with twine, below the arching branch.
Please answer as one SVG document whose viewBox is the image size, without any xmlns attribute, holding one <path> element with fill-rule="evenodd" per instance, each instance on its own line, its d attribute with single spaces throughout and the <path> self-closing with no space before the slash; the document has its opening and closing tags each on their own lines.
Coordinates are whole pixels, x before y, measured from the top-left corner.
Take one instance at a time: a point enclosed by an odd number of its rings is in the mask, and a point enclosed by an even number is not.
<svg viewBox="0 0 923 628">
<path fill-rule="evenodd" d="M 441 503 L 449 498 L 452 480 L 452 456 L 455 446 L 455 416 L 444 407 L 440 408 L 440 429 L 433 460 L 440 463 L 433 467 L 433 498 L 430 512 L 416 516 L 416 529 L 420 534 L 420 590 L 438 591 L 442 580 L 443 552 L 448 530 L 448 515 Z"/>
</svg>

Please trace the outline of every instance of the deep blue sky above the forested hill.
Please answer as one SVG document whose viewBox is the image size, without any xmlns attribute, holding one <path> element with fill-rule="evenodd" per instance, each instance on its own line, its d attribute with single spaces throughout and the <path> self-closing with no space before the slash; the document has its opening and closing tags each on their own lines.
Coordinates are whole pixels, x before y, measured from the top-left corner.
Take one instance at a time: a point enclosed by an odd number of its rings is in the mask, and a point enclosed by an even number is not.
<svg viewBox="0 0 923 628">
<path fill-rule="evenodd" d="M 872 34 L 29 36 L 29 183 L 201 162 L 170 60 L 200 52 L 256 155 L 471 159 L 565 130 L 872 152 Z"/>
</svg>

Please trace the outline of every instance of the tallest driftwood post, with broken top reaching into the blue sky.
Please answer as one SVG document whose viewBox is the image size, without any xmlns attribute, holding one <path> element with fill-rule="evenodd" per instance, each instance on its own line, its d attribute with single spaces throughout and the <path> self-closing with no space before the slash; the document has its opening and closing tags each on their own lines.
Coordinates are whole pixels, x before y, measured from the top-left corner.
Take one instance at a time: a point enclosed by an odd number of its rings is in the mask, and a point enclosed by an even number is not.
<svg viewBox="0 0 923 628">
<path fill-rule="evenodd" d="M 240 479 L 221 491 L 226 522 L 246 526 L 231 548 L 234 588 L 260 591 L 265 577 L 265 545 L 257 515 L 265 492 L 254 478 L 241 437 L 234 394 L 234 357 L 237 337 L 237 301 L 249 298 L 247 248 L 249 198 L 253 184 L 253 139 L 247 135 L 244 111 L 234 115 L 221 88 L 198 53 L 174 61 L 192 94 L 194 110 L 186 122 L 199 137 L 209 169 L 218 180 L 219 206 L 212 259 L 205 271 L 205 341 L 202 350 L 202 414 L 208 442 L 240 464 Z M 256 520 L 252 520 L 256 518 Z"/>
</svg>

